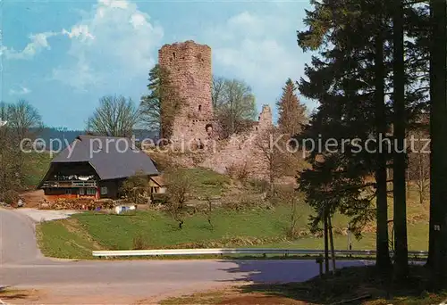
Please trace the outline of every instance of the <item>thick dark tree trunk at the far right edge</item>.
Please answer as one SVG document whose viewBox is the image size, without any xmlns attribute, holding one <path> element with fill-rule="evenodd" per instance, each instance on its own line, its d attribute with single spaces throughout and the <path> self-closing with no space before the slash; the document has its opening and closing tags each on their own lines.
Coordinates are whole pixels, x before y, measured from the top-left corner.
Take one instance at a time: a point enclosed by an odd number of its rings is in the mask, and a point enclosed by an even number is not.
<svg viewBox="0 0 447 305">
<path fill-rule="evenodd" d="M 447 4 L 431 0 L 430 45 L 430 236 L 428 265 L 434 288 L 447 284 Z"/>
</svg>

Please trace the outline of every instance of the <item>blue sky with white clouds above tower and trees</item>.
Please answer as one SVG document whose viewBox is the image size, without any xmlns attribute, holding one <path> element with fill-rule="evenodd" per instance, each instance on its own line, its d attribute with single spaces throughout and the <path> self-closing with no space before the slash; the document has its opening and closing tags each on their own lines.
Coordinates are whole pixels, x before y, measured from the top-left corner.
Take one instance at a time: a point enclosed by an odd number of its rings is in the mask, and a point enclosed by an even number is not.
<svg viewBox="0 0 447 305">
<path fill-rule="evenodd" d="M 305 1 L 0 0 L 3 102 L 34 105 L 46 126 L 85 128 L 104 95 L 139 103 L 164 44 L 212 48 L 213 74 L 244 80 L 257 110 L 299 80 Z M 301 98 L 309 109 L 313 101 Z M 274 110 L 274 118 L 276 111 Z"/>
</svg>

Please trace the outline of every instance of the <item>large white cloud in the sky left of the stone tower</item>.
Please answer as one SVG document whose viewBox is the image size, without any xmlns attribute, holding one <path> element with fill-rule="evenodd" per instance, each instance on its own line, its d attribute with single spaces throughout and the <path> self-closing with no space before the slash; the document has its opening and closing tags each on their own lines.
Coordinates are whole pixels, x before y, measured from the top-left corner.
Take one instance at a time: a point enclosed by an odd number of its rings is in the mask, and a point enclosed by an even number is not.
<svg viewBox="0 0 447 305">
<path fill-rule="evenodd" d="M 156 63 L 163 29 L 149 22 L 147 13 L 128 1 L 99 0 L 73 25 L 69 54 L 72 62 L 53 71 L 53 78 L 87 90 L 100 83 L 119 83 L 145 77 Z"/>
</svg>

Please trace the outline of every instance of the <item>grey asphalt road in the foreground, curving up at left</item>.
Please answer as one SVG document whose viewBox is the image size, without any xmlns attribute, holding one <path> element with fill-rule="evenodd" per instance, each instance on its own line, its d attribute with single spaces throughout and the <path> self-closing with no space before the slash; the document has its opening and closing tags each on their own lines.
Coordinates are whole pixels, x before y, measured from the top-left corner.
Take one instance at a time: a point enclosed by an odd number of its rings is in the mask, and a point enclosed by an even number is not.
<svg viewBox="0 0 447 305">
<path fill-rule="evenodd" d="M 0 286 L 50 289 L 66 295 L 149 298 L 228 284 L 307 280 L 315 260 L 52 260 L 38 251 L 35 223 L 0 209 Z M 338 267 L 364 261 L 339 261 Z"/>
</svg>

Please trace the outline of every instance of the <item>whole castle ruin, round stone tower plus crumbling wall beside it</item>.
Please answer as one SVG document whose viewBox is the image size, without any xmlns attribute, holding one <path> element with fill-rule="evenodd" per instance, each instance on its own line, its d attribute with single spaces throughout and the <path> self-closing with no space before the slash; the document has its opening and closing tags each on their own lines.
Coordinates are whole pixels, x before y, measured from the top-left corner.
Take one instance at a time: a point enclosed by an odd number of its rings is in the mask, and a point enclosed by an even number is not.
<svg viewBox="0 0 447 305">
<path fill-rule="evenodd" d="M 170 72 L 170 78 L 186 103 L 173 121 L 173 144 L 181 142 L 207 143 L 218 139 L 211 87 L 211 48 L 194 41 L 163 45 L 158 51 L 158 63 Z M 260 132 L 273 126 L 270 106 L 264 105 L 253 122 L 253 128 L 243 135 L 232 135 L 227 141 L 217 141 L 217 150 L 207 154 L 199 166 L 225 173 L 229 167 L 249 167 L 252 177 L 266 177 L 266 161 L 259 158 L 256 141 Z"/>
</svg>

